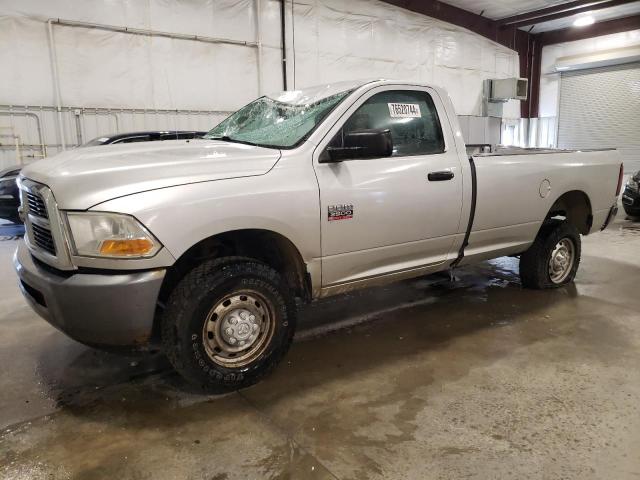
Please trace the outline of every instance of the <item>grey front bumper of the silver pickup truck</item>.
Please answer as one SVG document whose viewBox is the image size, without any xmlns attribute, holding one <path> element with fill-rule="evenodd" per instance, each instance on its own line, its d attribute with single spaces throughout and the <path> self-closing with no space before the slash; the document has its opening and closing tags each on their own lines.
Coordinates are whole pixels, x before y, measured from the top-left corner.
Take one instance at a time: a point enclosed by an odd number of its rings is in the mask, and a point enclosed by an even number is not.
<svg viewBox="0 0 640 480">
<path fill-rule="evenodd" d="M 63 274 L 36 263 L 24 242 L 13 263 L 30 306 L 71 338 L 110 347 L 139 346 L 151 338 L 164 269 Z"/>
</svg>

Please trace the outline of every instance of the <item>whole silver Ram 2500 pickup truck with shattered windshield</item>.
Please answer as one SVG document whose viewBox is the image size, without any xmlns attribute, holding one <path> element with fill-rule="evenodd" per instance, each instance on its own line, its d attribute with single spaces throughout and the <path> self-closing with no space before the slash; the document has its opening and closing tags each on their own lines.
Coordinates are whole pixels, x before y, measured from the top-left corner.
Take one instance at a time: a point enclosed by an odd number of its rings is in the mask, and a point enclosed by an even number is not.
<svg viewBox="0 0 640 480">
<path fill-rule="evenodd" d="M 204 140 L 83 148 L 19 178 L 32 307 L 94 346 L 160 341 L 215 391 L 286 353 L 303 301 L 520 256 L 571 282 L 616 213 L 615 150 L 467 156 L 446 92 L 337 83 L 261 97 Z"/>
</svg>

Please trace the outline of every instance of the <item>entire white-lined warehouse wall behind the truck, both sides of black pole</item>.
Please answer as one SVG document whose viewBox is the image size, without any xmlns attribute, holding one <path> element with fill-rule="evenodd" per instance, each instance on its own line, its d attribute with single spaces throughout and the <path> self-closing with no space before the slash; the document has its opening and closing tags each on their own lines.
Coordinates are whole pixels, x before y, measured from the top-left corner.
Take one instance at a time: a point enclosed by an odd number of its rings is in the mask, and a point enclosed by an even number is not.
<svg viewBox="0 0 640 480">
<path fill-rule="evenodd" d="M 73 111 L 62 115 L 65 143 L 78 143 L 77 130 L 86 141 L 115 129 L 208 129 L 225 112 L 282 88 L 279 8 L 278 0 L 3 0 L 0 105 L 32 106 L 42 117 L 47 153 L 59 149 L 55 112 L 37 110 L 56 105 L 50 18 L 247 42 L 52 25 L 61 104 L 82 109 L 77 118 Z M 286 15 L 289 88 L 371 77 L 415 80 L 445 86 L 459 114 L 479 115 L 482 80 L 518 76 L 514 51 L 380 1 L 288 0 Z M 90 116 L 84 110 L 90 108 L 112 110 Z M 150 112 L 119 111 L 134 108 Z M 519 117 L 519 103 L 506 105 L 505 116 Z M 22 143 L 38 143 L 32 118 L 0 116 L 0 127 Z M 14 150 L 0 152 L 0 167 L 15 162 Z"/>
</svg>

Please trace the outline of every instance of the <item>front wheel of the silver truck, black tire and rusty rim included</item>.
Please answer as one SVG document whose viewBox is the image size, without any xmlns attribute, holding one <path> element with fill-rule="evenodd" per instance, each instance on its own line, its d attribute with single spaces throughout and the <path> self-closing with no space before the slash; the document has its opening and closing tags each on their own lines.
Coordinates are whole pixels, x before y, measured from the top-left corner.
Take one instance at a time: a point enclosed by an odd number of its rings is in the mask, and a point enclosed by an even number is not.
<svg viewBox="0 0 640 480">
<path fill-rule="evenodd" d="M 246 258 L 204 262 L 174 288 L 161 318 L 173 367 L 207 391 L 247 387 L 285 355 L 296 306 L 274 269 Z"/>
</svg>

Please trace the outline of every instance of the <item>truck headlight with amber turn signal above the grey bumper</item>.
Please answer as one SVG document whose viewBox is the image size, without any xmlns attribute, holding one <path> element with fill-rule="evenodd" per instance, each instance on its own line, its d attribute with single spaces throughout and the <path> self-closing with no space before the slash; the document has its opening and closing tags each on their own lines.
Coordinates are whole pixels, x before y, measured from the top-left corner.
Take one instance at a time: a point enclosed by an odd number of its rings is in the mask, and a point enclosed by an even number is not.
<svg viewBox="0 0 640 480">
<path fill-rule="evenodd" d="M 160 242 L 129 215 L 67 212 L 74 255 L 84 257 L 153 257 Z"/>
</svg>

